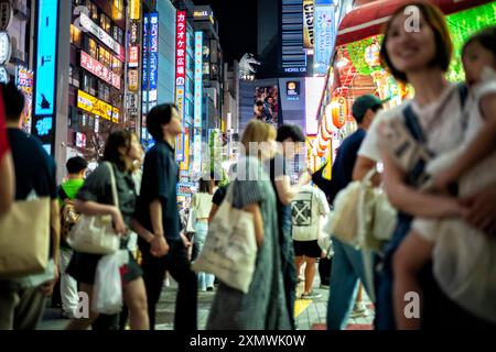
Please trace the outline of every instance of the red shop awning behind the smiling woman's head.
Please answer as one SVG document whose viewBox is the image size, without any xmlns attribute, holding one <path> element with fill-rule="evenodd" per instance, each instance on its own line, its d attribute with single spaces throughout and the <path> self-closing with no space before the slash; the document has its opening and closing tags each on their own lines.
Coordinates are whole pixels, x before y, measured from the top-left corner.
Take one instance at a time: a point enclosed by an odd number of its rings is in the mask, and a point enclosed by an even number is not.
<svg viewBox="0 0 496 352">
<path fill-rule="evenodd" d="M 445 14 L 475 8 L 492 0 L 430 0 Z M 336 46 L 380 34 L 384 24 L 401 6 L 412 0 L 377 0 L 352 10 L 341 22 Z"/>
</svg>

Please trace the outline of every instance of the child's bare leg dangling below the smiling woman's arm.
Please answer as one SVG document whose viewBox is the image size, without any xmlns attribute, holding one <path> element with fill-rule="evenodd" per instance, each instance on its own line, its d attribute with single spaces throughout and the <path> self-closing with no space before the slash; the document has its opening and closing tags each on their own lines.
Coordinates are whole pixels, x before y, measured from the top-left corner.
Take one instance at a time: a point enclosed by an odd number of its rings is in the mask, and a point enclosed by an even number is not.
<svg viewBox="0 0 496 352">
<path fill-rule="evenodd" d="M 396 324 L 400 330 L 420 329 L 423 300 L 417 276 L 429 262 L 432 248 L 432 242 L 424 240 L 413 230 L 407 235 L 395 254 L 393 307 Z M 409 293 L 417 295 L 413 295 L 412 298 L 407 295 Z M 418 306 L 414 306 L 416 302 Z"/>
</svg>

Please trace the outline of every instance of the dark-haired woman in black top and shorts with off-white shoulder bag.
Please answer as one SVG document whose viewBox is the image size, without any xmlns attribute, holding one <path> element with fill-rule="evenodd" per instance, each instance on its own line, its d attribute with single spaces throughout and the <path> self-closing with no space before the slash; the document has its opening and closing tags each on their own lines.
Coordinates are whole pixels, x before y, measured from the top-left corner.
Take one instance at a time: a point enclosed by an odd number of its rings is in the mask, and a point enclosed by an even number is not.
<svg viewBox="0 0 496 352">
<path fill-rule="evenodd" d="M 111 133 L 105 144 L 104 157 L 97 169 L 88 176 L 76 196 L 76 210 L 82 215 L 108 215 L 112 217 L 116 235 L 121 235 L 121 249 L 127 249 L 129 229 L 136 205 L 136 186 L 132 178 L 133 162 L 140 157 L 141 145 L 138 136 L 128 131 Z M 119 207 L 114 205 L 111 173 L 114 170 Z M 129 250 L 128 250 L 129 251 Z M 89 298 L 90 307 L 96 270 L 103 255 L 74 251 L 67 273 L 79 283 L 80 292 Z M 121 268 L 122 296 L 129 308 L 130 328 L 148 330 L 147 299 L 142 271 L 129 251 L 129 261 Z M 73 319 L 67 330 L 86 330 L 98 314 L 89 310 L 89 317 Z M 108 319 L 117 321 L 117 316 L 103 316 L 107 326 Z M 117 324 L 117 323 L 116 323 Z M 97 324 L 98 326 L 98 324 Z M 98 329 L 98 327 L 97 327 Z M 104 327 L 103 327 L 104 329 Z"/>
</svg>

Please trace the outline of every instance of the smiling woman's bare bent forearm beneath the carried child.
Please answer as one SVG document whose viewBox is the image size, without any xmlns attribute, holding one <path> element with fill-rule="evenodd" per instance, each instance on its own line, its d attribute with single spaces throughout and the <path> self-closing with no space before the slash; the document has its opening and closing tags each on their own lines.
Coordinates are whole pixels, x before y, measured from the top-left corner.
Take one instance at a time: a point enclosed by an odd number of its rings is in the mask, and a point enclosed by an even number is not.
<svg viewBox="0 0 496 352">
<path fill-rule="evenodd" d="M 382 152 L 384 186 L 391 205 L 413 217 L 443 218 L 462 216 L 462 206 L 446 196 L 421 193 L 405 184 L 405 175 L 395 165 L 387 152 Z"/>
</svg>

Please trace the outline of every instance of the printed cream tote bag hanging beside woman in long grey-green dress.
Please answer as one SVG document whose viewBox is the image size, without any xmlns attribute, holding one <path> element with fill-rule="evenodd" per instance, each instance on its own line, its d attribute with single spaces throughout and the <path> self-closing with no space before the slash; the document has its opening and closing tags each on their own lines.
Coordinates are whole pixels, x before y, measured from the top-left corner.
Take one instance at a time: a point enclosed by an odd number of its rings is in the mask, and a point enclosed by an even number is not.
<svg viewBox="0 0 496 352">
<path fill-rule="evenodd" d="M 255 223 L 251 213 L 231 206 L 233 187 L 208 226 L 205 245 L 192 267 L 247 294 L 257 260 Z"/>
</svg>

